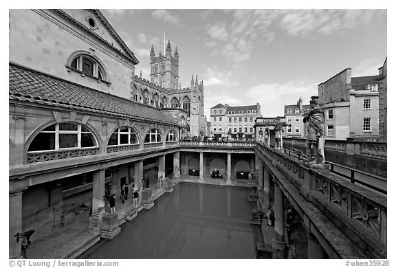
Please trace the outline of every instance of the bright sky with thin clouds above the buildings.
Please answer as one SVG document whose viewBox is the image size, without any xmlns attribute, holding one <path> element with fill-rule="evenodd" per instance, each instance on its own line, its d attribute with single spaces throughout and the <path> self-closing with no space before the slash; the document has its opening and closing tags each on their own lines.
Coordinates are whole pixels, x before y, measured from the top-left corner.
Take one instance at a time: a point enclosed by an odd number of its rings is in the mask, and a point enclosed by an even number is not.
<svg viewBox="0 0 396 268">
<path fill-rule="evenodd" d="M 318 84 L 352 68 L 373 76 L 387 56 L 384 9 L 101 9 L 140 61 L 149 79 L 149 54 L 164 53 L 164 34 L 179 52 L 179 83 L 203 80 L 205 113 L 218 103 L 259 102 L 264 117 L 318 95 Z"/>
</svg>

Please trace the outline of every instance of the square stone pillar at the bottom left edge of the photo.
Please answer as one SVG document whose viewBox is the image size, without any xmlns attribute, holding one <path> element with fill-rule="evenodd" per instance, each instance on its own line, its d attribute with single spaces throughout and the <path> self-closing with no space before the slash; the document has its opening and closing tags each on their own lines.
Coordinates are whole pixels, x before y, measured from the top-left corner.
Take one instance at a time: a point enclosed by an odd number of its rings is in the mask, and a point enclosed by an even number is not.
<svg viewBox="0 0 396 268">
<path fill-rule="evenodd" d="M 21 238 L 17 242 L 17 233 L 22 233 L 22 193 L 28 188 L 18 189 L 8 194 L 8 258 L 21 258 Z M 29 250 L 29 249 L 28 249 Z"/>
</svg>

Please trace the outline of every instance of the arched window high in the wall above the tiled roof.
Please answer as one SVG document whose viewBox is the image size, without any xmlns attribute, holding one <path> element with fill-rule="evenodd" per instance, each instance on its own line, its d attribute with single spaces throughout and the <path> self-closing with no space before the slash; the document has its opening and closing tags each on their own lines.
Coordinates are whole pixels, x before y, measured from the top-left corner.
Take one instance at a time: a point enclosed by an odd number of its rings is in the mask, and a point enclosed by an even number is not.
<svg viewBox="0 0 396 268">
<path fill-rule="evenodd" d="M 75 71 L 80 71 L 81 73 L 99 78 L 100 80 L 107 80 L 107 74 L 104 71 L 104 67 L 100 64 L 97 58 L 89 54 L 77 54 L 72 58 L 70 63 L 70 68 Z"/>
</svg>

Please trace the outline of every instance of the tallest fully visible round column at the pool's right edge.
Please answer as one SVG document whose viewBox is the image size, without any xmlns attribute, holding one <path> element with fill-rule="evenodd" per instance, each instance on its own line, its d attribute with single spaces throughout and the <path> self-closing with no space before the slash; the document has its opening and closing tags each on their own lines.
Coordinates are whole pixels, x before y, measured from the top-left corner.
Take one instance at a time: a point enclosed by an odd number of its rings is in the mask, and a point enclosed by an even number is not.
<svg viewBox="0 0 396 268">
<path fill-rule="evenodd" d="M 281 188 L 275 183 L 275 239 L 274 249 L 276 249 L 276 256 L 282 258 L 283 249 L 286 247 L 285 243 L 285 226 L 283 219 L 283 193 Z"/>
</svg>

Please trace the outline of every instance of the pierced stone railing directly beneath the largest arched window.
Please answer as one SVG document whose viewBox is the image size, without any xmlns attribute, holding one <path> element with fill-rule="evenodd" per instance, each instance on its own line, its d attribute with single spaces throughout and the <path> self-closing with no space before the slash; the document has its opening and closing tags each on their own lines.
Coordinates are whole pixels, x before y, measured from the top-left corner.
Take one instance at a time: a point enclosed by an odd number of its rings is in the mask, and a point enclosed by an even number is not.
<svg viewBox="0 0 396 268">
<path fill-rule="evenodd" d="M 58 159 L 68 159 L 75 157 L 84 157 L 88 155 L 98 155 L 99 148 L 74 149 L 74 150 L 58 150 L 56 152 L 45 153 L 28 153 L 27 164 L 36 162 L 45 162 Z"/>
</svg>

